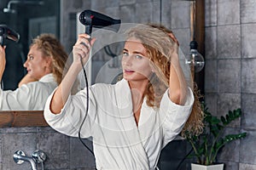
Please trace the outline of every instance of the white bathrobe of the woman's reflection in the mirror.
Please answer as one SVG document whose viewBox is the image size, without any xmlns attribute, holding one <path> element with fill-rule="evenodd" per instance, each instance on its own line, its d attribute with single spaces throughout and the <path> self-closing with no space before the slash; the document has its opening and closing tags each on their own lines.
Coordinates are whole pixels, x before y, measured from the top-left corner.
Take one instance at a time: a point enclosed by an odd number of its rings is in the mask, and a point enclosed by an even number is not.
<svg viewBox="0 0 256 170">
<path fill-rule="evenodd" d="M 23 84 L 15 91 L 0 89 L 0 111 L 42 111 L 46 99 L 56 87 L 55 78 L 48 74 L 37 82 Z"/>
</svg>

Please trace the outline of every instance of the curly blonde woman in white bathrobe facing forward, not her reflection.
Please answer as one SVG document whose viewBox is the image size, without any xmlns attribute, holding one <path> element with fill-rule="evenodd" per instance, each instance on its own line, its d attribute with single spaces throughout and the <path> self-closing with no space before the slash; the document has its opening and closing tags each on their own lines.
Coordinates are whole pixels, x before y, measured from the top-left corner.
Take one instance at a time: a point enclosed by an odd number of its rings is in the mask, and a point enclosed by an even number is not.
<svg viewBox="0 0 256 170">
<path fill-rule="evenodd" d="M 55 130 L 70 136 L 92 137 L 97 169 L 155 169 L 163 149 L 181 132 L 194 102 L 179 65 L 177 42 L 154 26 L 128 32 L 123 50 L 123 79 L 114 85 L 69 92 L 96 41 L 79 35 L 73 64 L 49 96 L 44 117 Z M 85 45 L 84 45 L 85 44 Z M 171 66 L 172 64 L 172 66 Z"/>
</svg>

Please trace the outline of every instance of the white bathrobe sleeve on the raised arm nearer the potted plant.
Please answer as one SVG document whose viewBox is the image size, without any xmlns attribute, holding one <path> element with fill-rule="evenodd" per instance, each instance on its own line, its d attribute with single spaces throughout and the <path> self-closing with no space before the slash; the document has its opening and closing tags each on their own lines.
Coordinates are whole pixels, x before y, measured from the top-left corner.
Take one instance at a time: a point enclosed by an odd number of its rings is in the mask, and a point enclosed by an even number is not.
<svg viewBox="0 0 256 170">
<path fill-rule="evenodd" d="M 194 103 L 194 95 L 188 88 L 187 99 L 184 105 L 176 105 L 169 99 L 168 90 L 160 103 L 160 122 L 163 128 L 163 147 L 176 138 L 188 120 Z"/>
</svg>

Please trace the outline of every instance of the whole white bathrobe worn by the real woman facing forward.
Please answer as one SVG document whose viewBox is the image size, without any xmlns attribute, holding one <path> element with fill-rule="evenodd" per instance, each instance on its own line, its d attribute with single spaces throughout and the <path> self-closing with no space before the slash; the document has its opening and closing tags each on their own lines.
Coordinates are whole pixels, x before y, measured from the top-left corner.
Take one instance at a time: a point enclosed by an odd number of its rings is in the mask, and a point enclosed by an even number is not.
<svg viewBox="0 0 256 170">
<path fill-rule="evenodd" d="M 46 102 L 44 117 L 55 130 L 70 136 L 92 137 L 96 168 L 112 170 L 149 170 L 156 167 L 160 150 L 172 141 L 189 117 L 194 96 L 188 89 L 185 105 L 176 105 L 164 94 L 159 109 L 143 101 L 138 126 L 132 112 L 131 90 L 125 79 L 115 85 L 90 87 L 89 113 L 86 90 L 69 96 L 60 114 L 49 110 L 52 95 Z"/>
</svg>

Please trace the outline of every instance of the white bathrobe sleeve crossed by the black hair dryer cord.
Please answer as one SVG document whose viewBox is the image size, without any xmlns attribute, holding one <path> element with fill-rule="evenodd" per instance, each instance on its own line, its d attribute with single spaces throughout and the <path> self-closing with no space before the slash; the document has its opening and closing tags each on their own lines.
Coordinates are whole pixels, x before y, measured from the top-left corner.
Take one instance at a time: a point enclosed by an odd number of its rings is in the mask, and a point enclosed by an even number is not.
<svg viewBox="0 0 256 170">
<path fill-rule="evenodd" d="M 81 128 L 81 137 L 90 137 L 93 122 L 96 118 L 96 99 L 94 99 L 93 91 L 90 88 L 89 114 L 86 113 L 86 90 L 81 90 L 75 95 L 69 95 L 61 113 L 53 114 L 49 109 L 49 104 L 55 93 L 54 91 L 47 99 L 44 108 L 44 118 L 49 123 L 49 126 L 60 133 L 65 133 L 73 137 L 79 136 L 79 130 Z"/>
</svg>

